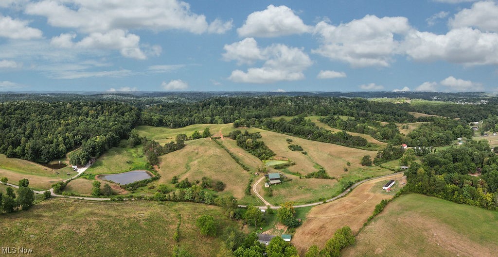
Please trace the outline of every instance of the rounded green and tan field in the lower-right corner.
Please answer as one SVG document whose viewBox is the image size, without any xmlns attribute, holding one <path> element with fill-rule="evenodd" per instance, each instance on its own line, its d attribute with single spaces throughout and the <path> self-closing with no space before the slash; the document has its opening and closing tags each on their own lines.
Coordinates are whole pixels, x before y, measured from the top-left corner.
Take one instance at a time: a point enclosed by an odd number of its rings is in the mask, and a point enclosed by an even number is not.
<svg viewBox="0 0 498 257">
<path fill-rule="evenodd" d="M 342 256 L 497 256 L 498 212 L 421 194 L 390 202 Z"/>
</svg>

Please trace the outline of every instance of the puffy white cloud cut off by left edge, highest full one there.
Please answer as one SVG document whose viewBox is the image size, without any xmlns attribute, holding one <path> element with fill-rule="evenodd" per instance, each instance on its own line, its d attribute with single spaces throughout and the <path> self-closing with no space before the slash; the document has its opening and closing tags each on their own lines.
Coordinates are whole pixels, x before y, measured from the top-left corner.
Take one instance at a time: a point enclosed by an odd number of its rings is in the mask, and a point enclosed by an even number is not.
<svg viewBox="0 0 498 257">
<path fill-rule="evenodd" d="M 0 37 L 10 39 L 41 38 L 43 34 L 41 30 L 29 27 L 28 24 L 28 21 L 12 19 L 0 14 Z"/>
</svg>

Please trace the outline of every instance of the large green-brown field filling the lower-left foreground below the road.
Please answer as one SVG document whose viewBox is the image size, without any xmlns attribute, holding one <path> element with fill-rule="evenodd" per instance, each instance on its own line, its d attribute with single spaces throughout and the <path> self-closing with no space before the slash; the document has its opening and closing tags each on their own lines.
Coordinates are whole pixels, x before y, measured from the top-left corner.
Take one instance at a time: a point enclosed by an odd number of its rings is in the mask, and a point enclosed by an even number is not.
<svg viewBox="0 0 498 257">
<path fill-rule="evenodd" d="M 1 214 L 2 246 L 32 248 L 34 256 L 172 256 L 181 215 L 180 242 L 192 256 L 216 256 L 219 238 L 201 236 L 195 226 L 212 215 L 220 226 L 238 226 L 219 207 L 147 201 L 92 202 L 53 198 L 27 211 Z"/>
</svg>

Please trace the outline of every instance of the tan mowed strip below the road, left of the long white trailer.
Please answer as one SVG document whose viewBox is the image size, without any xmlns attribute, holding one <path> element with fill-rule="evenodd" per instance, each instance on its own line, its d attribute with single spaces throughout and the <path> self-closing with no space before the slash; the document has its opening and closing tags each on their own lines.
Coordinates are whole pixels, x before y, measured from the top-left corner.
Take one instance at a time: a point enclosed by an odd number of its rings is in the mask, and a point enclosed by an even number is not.
<svg viewBox="0 0 498 257">
<path fill-rule="evenodd" d="M 313 245 L 323 248 L 334 232 L 343 226 L 351 227 L 356 234 L 372 215 L 375 205 L 382 199 L 392 198 L 391 194 L 383 193 L 381 187 L 378 190 L 373 187 L 391 179 L 399 181 L 402 176 L 397 174 L 365 182 L 338 200 L 313 207 L 297 228 L 292 244 L 304 254 Z"/>
</svg>

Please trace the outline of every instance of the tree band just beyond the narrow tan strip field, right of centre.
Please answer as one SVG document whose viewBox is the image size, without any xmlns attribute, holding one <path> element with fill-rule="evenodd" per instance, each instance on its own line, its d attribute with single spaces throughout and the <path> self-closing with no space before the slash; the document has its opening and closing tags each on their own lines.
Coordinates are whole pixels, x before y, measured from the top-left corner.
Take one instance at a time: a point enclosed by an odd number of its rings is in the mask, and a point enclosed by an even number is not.
<svg viewBox="0 0 498 257">
<path fill-rule="evenodd" d="M 380 122 L 372 120 L 372 118 L 373 117 L 360 118 L 357 116 L 352 119 L 348 118 L 347 120 L 343 120 L 340 116 L 332 115 L 322 117 L 319 120 L 332 128 L 368 134 L 380 141 L 401 137 L 396 124 L 388 123 L 385 126 L 382 126 Z M 397 140 L 399 141 L 399 139 Z"/>
</svg>

